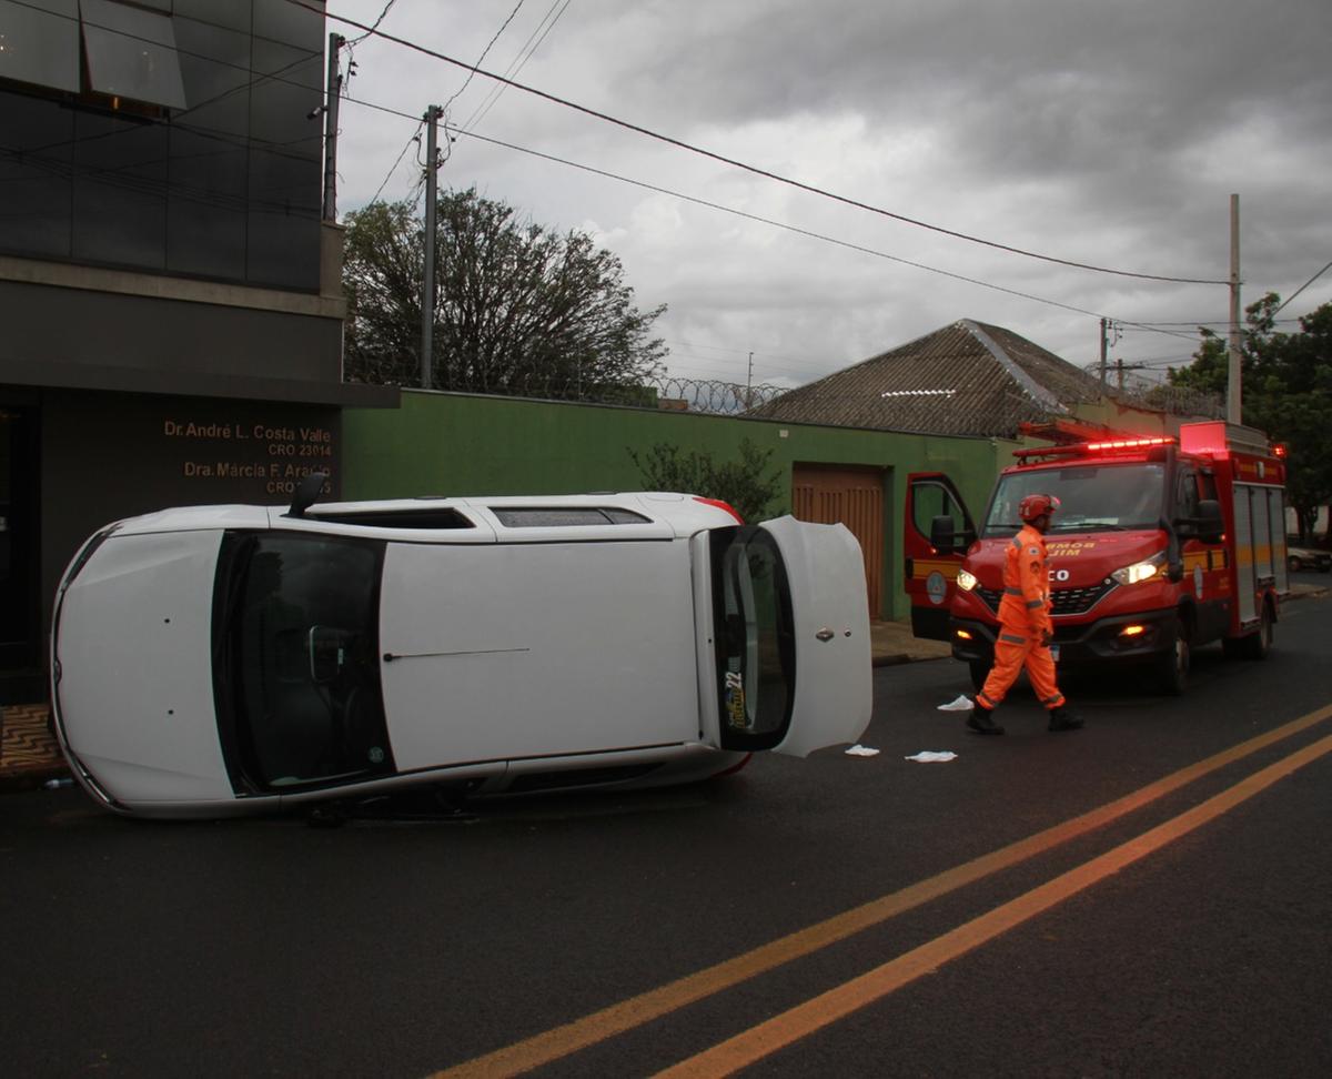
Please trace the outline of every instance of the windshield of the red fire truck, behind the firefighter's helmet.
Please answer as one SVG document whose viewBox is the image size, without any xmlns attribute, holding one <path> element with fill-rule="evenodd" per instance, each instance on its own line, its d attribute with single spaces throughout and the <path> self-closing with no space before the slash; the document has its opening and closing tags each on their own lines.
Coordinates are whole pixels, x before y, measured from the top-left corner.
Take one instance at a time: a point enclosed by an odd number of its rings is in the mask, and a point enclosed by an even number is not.
<svg viewBox="0 0 1332 1079">
<path fill-rule="evenodd" d="M 1022 528 L 1018 504 L 1028 494 L 1059 500 L 1051 534 L 1155 529 L 1164 509 L 1166 468 L 1136 461 L 1011 472 L 999 478 L 980 534 L 988 540 L 1016 533 Z"/>
</svg>

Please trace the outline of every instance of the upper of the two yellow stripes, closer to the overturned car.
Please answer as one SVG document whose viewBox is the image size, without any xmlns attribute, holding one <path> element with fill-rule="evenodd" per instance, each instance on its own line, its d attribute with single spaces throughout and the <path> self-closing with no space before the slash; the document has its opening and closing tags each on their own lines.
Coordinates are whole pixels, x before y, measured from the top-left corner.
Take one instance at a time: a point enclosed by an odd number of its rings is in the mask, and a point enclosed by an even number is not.
<svg viewBox="0 0 1332 1079">
<path fill-rule="evenodd" d="M 603 1042 L 607 1038 L 614 1038 L 625 1031 L 650 1023 L 654 1019 L 722 992 L 750 978 L 757 978 L 794 959 L 811 955 L 829 944 L 880 924 L 922 903 L 938 899 L 966 885 L 975 883 L 984 877 L 1043 854 L 1071 839 L 1076 839 L 1088 831 L 1150 805 L 1158 798 L 1179 790 L 1187 783 L 1192 783 L 1195 779 L 1200 779 L 1208 773 L 1240 761 L 1275 742 L 1299 734 L 1316 723 L 1321 723 L 1329 717 L 1332 717 L 1332 706 L 1312 711 L 1275 730 L 1232 746 L 1185 769 L 1180 769 L 1171 775 L 1158 779 L 1155 783 L 1148 783 L 1146 787 L 1091 810 L 1082 817 L 1075 817 L 1046 831 L 1019 839 L 996 851 L 946 870 L 936 877 L 910 885 L 900 891 L 872 899 L 843 914 L 834 915 L 767 944 L 761 944 L 753 951 L 737 955 L 733 959 L 705 967 L 701 971 L 642 992 L 638 996 L 631 996 L 627 1000 L 621 1000 L 619 1003 L 594 1011 L 581 1019 L 553 1027 L 531 1038 L 514 1042 L 511 1046 L 505 1046 L 484 1056 L 477 1056 L 440 1071 L 437 1075 L 441 1079 L 444 1076 L 448 1076 L 448 1079 L 461 1079 L 462 1076 L 519 1075 L 542 1064 L 549 1064 L 551 1060 L 558 1060 L 598 1042 Z"/>
</svg>

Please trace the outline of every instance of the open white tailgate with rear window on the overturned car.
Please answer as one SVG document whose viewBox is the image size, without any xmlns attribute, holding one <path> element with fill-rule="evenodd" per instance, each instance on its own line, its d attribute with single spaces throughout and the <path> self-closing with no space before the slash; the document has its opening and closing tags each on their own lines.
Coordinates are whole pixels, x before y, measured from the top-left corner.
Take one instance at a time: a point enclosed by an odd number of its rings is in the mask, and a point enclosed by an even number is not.
<svg viewBox="0 0 1332 1079">
<path fill-rule="evenodd" d="M 871 661 L 855 537 L 782 517 L 717 529 L 706 543 L 717 745 L 806 757 L 859 738 Z"/>
</svg>

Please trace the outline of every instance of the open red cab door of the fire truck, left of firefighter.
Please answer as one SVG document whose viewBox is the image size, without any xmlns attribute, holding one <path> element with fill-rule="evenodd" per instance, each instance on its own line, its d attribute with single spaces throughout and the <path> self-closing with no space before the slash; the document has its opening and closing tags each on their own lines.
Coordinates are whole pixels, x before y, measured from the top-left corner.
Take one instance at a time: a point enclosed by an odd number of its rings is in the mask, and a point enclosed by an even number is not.
<svg viewBox="0 0 1332 1079">
<path fill-rule="evenodd" d="M 936 517 L 952 520 L 952 550 L 930 542 L 930 529 Z M 958 570 L 976 528 L 952 480 L 942 472 L 907 476 L 907 504 L 902 521 L 903 581 L 911 601 L 911 631 L 916 637 L 947 641 L 948 607 L 958 586 Z"/>
</svg>

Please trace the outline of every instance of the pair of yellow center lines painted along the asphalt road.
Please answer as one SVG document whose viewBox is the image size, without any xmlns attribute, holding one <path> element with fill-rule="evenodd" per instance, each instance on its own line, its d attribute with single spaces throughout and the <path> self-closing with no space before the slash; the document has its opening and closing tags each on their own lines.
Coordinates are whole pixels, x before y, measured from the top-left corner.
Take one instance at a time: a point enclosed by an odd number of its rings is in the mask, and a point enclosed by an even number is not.
<svg viewBox="0 0 1332 1079">
<path fill-rule="evenodd" d="M 1000 870 L 1010 869 L 1062 843 L 1084 835 L 1155 802 L 1219 769 L 1241 761 L 1276 742 L 1332 717 L 1332 706 L 1319 709 L 1267 734 L 1260 734 L 1223 753 L 1199 761 L 1158 779 L 1132 794 L 1075 817 L 1062 825 L 1036 833 L 1016 843 L 964 862 L 951 870 L 920 881 L 900 891 L 874 899 L 807 928 L 782 936 L 753 951 L 737 955 L 695 974 L 690 974 L 649 992 L 631 996 L 571 1023 L 515 1042 L 505 1048 L 468 1060 L 438 1072 L 440 1076 L 518 1075 L 549 1064 L 589 1046 L 641 1027 L 687 1004 L 713 996 L 742 982 L 774 970 L 794 959 L 810 955 L 871 926 L 880 924 L 904 911 L 947 895 Z M 1332 753 L 1332 735 L 1269 765 L 1243 782 L 1209 798 L 1195 809 L 1143 833 L 1135 839 L 1094 858 L 1068 873 L 1034 889 L 1016 899 L 967 922 L 912 951 L 854 978 L 819 996 L 693 1056 L 663 1075 L 725 1075 L 753 1064 L 783 1046 L 836 1022 L 852 1011 L 886 996 L 943 963 L 994 939 L 1014 926 L 1063 902 L 1124 866 L 1160 850 L 1167 843 L 1193 831 L 1208 821 L 1252 798 L 1304 765 Z"/>
</svg>

